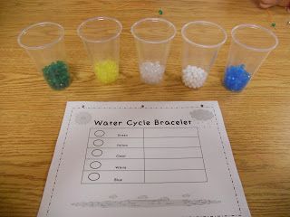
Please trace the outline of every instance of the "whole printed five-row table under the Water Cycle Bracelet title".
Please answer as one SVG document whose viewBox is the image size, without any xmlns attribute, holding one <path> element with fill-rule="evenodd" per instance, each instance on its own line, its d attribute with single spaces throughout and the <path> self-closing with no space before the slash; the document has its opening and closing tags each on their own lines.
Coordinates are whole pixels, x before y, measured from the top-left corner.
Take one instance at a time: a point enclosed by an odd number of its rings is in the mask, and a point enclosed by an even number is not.
<svg viewBox="0 0 290 217">
<path fill-rule="evenodd" d="M 197 127 L 90 129 L 81 184 L 206 182 Z"/>
</svg>

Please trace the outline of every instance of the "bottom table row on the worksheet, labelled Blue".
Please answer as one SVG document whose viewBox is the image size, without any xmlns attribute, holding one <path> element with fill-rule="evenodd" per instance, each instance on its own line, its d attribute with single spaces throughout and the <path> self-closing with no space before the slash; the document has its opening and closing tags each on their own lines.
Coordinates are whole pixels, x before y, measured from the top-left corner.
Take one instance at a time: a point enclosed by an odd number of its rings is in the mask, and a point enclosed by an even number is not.
<svg viewBox="0 0 290 217">
<path fill-rule="evenodd" d="M 82 184 L 144 184 L 207 182 L 205 170 L 83 171 Z"/>
</svg>

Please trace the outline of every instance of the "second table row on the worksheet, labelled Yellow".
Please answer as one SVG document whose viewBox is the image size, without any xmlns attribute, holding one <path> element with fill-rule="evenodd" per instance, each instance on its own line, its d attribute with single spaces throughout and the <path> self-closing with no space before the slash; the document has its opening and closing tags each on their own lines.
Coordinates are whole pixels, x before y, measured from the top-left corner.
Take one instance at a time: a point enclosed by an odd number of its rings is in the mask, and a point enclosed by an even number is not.
<svg viewBox="0 0 290 217">
<path fill-rule="evenodd" d="M 200 146 L 198 137 L 89 138 L 88 147 L 187 147 Z"/>
</svg>

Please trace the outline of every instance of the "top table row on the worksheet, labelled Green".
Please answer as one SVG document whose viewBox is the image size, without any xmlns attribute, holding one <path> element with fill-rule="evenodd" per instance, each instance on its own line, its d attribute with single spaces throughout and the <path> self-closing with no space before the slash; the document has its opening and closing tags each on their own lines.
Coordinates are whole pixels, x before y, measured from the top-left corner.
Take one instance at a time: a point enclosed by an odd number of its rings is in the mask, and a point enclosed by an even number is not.
<svg viewBox="0 0 290 217">
<path fill-rule="evenodd" d="M 89 137 L 198 137 L 196 127 L 91 128 Z"/>
</svg>

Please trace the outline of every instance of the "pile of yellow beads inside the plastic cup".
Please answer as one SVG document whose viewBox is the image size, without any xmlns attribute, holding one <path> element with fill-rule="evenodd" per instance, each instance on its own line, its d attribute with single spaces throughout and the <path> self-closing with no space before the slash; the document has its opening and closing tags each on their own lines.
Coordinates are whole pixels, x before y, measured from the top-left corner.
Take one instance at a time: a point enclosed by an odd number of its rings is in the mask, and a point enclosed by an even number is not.
<svg viewBox="0 0 290 217">
<path fill-rule="evenodd" d="M 94 73 L 102 83 L 111 83 L 119 77 L 119 65 L 116 61 L 98 61 L 93 67 Z"/>
</svg>

